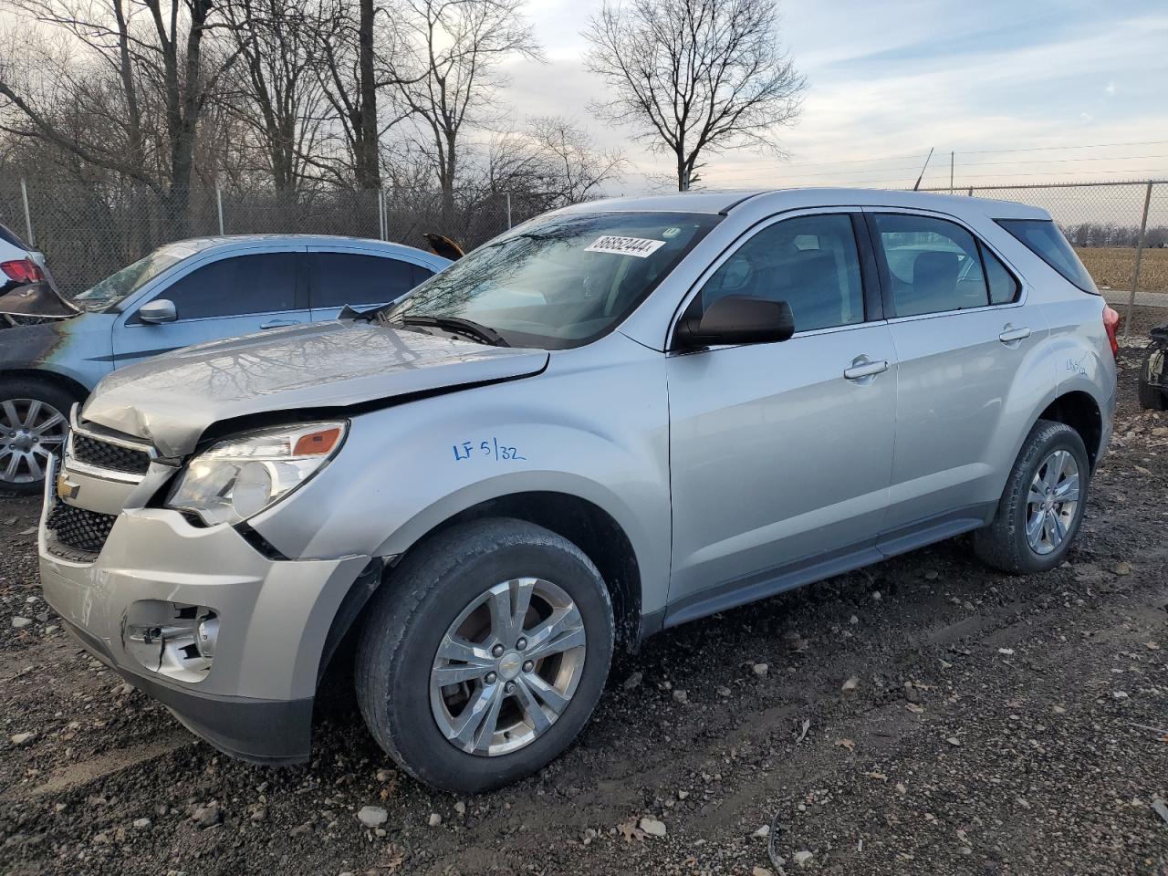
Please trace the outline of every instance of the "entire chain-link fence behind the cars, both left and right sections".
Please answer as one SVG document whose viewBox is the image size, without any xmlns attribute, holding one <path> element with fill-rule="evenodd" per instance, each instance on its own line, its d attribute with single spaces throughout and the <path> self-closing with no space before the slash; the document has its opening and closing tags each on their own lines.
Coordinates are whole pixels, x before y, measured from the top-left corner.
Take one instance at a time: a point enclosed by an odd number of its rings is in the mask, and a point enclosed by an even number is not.
<svg viewBox="0 0 1168 876">
<path fill-rule="evenodd" d="M 1100 288 L 1168 293 L 1168 181 L 990 186 L 954 194 L 1043 207 Z M 438 232 L 470 249 L 549 206 L 538 195 L 507 193 L 456 192 L 444 208 L 436 192 L 194 187 L 180 207 L 141 186 L 0 180 L 0 222 L 33 238 L 67 293 L 181 237 L 301 232 L 425 246 L 422 235 Z"/>
</svg>

